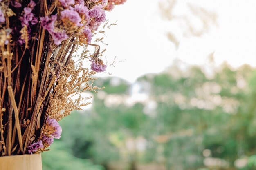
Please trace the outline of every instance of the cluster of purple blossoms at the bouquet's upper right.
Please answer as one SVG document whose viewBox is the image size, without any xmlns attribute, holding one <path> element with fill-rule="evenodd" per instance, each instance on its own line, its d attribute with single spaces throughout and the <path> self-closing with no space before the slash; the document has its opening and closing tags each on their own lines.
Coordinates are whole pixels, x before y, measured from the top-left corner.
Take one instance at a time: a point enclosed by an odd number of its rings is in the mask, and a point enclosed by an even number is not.
<svg viewBox="0 0 256 170">
<path fill-rule="evenodd" d="M 102 22 L 106 21 L 105 11 L 103 10 L 104 6 L 108 0 L 92 0 L 92 2 L 98 2 L 99 4 L 95 5 L 94 8 L 88 9 L 85 6 L 83 0 L 58 0 L 62 7 L 65 9 L 61 11 L 61 20 L 66 27 L 65 30 L 68 30 L 68 26 L 84 26 L 84 31 L 81 37 L 85 38 L 88 44 L 92 40 L 92 32 L 96 31 Z M 61 44 L 63 40 L 67 40 L 70 31 L 59 30 L 54 26 L 56 22 L 55 15 L 41 17 L 41 25 L 44 29 L 49 31 L 50 35 L 54 40 L 56 45 Z M 76 28 L 76 27 L 74 27 Z"/>
</svg>

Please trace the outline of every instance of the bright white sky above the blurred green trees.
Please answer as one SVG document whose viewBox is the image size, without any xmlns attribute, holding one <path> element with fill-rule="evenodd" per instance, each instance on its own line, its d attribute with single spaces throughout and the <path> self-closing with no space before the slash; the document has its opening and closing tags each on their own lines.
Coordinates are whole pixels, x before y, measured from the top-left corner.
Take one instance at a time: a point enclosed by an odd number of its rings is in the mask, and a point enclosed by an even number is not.
<svg viewBox="0 0 256 170">
<path fill-rule="evenodd" d="M 159 0 L 127 0 L 107 13 L 110 22 L 118 22 L 107 32 L 105 55 L 109 62 L 114 56 L 126 60 L 107 71 L 134 82 L 146 73 L 164 71 L 176 58 L 203 65 L 212 52 L 216 64 L 256 66 L 256 0 L 178 0 L 177 13 L 186 13 L 186 2 L 215 11 L 218 26 L 200 38 L 182 37 L 177 50 L 166 33 L 179 31 L 180 25 L 161 17 Z"/>
</svg>

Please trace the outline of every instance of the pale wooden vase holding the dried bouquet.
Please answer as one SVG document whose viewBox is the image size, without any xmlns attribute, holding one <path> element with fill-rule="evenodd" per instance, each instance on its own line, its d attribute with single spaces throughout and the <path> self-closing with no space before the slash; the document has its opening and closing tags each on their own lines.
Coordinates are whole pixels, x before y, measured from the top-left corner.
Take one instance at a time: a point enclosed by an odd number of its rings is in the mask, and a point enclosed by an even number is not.
<svg viewBox="0 0 256 170">
<path fill-rule="evenodd" d="M 42 170 L 41 154 L 0 157 L 0 170 Z"/>
</svg>

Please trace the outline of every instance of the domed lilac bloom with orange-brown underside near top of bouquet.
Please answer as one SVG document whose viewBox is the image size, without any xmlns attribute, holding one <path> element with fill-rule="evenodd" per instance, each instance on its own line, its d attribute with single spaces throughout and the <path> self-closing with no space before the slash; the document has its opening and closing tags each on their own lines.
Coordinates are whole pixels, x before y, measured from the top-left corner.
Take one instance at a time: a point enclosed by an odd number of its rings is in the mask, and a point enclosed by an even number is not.
<svg viewBox="0 0 256 170">
<path fill-rule="evenodd" d="M 77 26 L 83 25 L 80 23 L 82 19 L 81 19 L 79 13 L 77 13 L 76 11 L 71 10 L 71 9 L 65 9 L 65 10 L 61 11 L 61 19 L 64 22 L 65 22 L 65 20 L 69 20 L 70 22 L 73 22 Z"/>
</svg>

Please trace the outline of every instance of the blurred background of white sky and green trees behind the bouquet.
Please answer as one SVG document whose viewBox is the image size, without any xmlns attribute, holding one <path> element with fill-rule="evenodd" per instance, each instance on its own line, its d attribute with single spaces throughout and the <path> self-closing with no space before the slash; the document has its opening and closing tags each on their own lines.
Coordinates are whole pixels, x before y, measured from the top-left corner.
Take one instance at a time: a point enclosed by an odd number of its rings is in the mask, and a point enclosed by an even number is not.
<svg viewBox="0 0 256 170">
<path fill-rule="evenodd" d="M 255 9 L 128 0 L 107 13 L 112 75 L 59 122 L 43 170 L 256 170 Z"/>
</svg>

